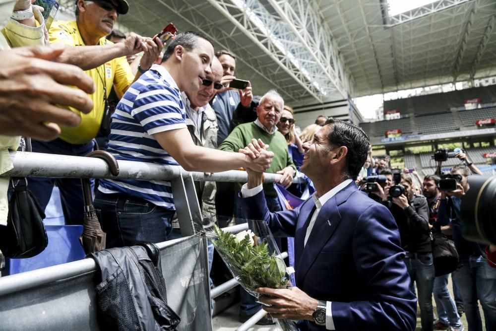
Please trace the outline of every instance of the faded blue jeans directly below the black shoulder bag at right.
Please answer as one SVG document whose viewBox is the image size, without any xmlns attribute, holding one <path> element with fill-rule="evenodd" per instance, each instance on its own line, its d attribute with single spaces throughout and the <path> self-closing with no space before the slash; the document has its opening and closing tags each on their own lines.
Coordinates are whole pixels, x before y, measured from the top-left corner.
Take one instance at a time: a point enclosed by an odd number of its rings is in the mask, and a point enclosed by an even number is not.
<svg viewBox="0 0 496 331">
<path fill-rule="evenodd" d="M 437 307 L 437 318 L 445 325 L 454 329 L 462 326 L 460 316 L 456 311 L 456 304 L 448 291 L 449 274 L 434 278 L 434 301 Z"/>
</svg>

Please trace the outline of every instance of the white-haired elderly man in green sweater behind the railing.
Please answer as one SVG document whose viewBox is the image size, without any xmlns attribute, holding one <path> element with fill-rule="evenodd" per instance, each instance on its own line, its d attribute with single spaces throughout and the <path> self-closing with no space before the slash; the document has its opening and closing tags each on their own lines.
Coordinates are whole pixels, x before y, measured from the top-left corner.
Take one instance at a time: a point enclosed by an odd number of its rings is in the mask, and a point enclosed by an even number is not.
<svg viewBox="0 0 496 331">
<path fill-rule="evenodd" d="M 282 174 L 283 177 L 279 181 L 284 187 L 289 187 L 296 174 L 296 167 L 288 152 L 288 144 L 286 138 L 277 131 L 276 124 L 281 118 L 284 108 L 284 100 L 274 90 L 267 92 L 260 99 L 260 104 L 256 107 L 257 119 L 251 123 L 245 123 L 237 126 L 231 134 L 219 146 L 220 150 L 238 151 L 247 146 L 252 138 L 262 139 L 268 144 L 269 150 L 274 152 L 274 158 L 270 168 L 266 170 L 268 173 Z M 238 192 L 241 184 L 237 184 Z M 282 210 L 282 206 L 277 198 L 277 193 L 272 184 L 264 184 L 263 187 L 265 199 L 270 211 Z M 235 199 L 235 217 L 236 222 L 243 222 L 243 214 L 239 199 Z M 246 291 L 241 291 L 242 302 L 240 306 L 240 322 L 245 322 L 258 310 L 260 305 L 254 302 Z M 271 321 L 264 320 L 259 324 L 268 324 Z"/>
</svg>

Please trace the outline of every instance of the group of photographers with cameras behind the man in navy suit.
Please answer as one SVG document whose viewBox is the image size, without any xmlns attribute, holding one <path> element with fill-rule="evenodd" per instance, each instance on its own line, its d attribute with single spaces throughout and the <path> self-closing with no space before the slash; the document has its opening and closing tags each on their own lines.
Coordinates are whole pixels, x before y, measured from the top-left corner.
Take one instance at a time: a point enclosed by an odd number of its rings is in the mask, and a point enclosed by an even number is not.
<svg viewBox="0 0 496 331">
<path fill-rule="evenodd" d="M 469 190 L 467 177 L 482 175 L 482 172 L 470 162 L 465 152 L 458 152 L 455 157 L 460 164 L 450 173 L 457 176 L 456 190 L 439 189 L 442 161 L 438 162 L 435 174 L 425 176 L 423 180 L 416 171 L 405 168 L 397 174 L 399 183 L 395 183 L 390 157 L 373 159 L 372 153 L 362 167 L 362 177 L 357 179 L 357 184 L 362 185 L 362 190 L 368 191 L 372 199 L 387 206 L 398 224 L 412 291 L 415 291 L 413 283 L 417 285 L 422 330 L 464 330 L 460 320 L 462 314 L 466 315 L 469 330 L 483 330 L 480 302 L 486 330 L 489 331 L 496 328 L 496 246 L 463 238 L 464 220 L 461 215 L 461 198 Z M 377 175 L 385 178 L 380 179 Z M 367 190 L 367 178 L 376 189 Z M 421 183 L 421 187 L 416 187 L 416 181 Z M 404 193 L 391 197 L 389 191 L 395 184 L 404 187 Z M 434 275 L 431 241 L 436 232 L 453 240 L 459 255 L 459 266 L 451 274 L 454 298 L 447 288 L 449 274 Z"/>
</svg>

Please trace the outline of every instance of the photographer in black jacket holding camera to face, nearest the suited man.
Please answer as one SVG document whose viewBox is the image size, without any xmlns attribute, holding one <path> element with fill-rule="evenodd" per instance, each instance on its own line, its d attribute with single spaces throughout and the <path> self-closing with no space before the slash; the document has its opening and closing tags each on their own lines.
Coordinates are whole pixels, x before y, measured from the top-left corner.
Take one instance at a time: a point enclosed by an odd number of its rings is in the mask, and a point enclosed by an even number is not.
<svg viewBox="0 0 496 331">
<path fill-rule="evenodd" d="M 393 173 L 394 172 L 394 173 Z M 415 196 L 411 177 L 384 170 L 387 181 L 384 190 L 378 186 L 382 203 L 389 208 L 399 228 L 401 247 L 406 252 L 405 264 L 413 282 L 417 283 L 422 330 L 433 330 L 434 313 L 432 294 L 434 262 L 429 229 L 429 206 L 426 198 Z M 394 185 L 390 185 L 394 182 Z"/>
</svg>

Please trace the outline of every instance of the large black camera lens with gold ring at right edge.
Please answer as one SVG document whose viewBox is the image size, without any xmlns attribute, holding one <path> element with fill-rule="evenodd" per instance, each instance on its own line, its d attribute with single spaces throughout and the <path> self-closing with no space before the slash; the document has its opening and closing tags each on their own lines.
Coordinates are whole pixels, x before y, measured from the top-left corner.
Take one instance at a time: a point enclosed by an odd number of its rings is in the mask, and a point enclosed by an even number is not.
<svg viewBox="0 0 496 331">
<path fill-rule="evenodd" d="M 496 245 L 496 177 L 470 176 L 470 189 L 462 198 L 463 236 L 479 243 Z"/>
</svg>

